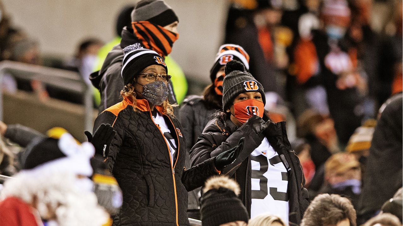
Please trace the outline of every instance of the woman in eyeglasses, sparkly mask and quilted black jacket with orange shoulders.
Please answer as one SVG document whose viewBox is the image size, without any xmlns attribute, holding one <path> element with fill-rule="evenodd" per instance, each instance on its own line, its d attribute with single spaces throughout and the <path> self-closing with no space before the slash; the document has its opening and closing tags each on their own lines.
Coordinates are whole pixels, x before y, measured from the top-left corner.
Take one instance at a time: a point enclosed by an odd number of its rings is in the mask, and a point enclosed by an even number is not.
<svg viewBox="0 0 403 226">
<path fill-rule="evenodd" d="M 175 106 L 168 103 L 171 76 L 164 60 L 138 44 L 123 51 L 123 101 L 103 111 L 94 125 L 110 124 L 116 131 L 102 153 L 123 193 L 114 225 L 189 225 L 187 191 L 219 174 L 241 148 L 186 170 L 186 144 Z"/>
</svg>

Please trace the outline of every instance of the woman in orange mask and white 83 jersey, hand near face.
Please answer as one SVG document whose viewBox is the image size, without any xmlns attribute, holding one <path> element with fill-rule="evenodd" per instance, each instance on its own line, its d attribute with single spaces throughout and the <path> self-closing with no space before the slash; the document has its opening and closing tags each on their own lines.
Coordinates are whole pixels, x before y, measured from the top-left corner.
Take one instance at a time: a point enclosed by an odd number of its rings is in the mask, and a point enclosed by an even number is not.
<svg viewBox="0 0 403 226">
<path fill-rule="evenodd" d="M 241 62 L 228 62 L 224 73 L 222 110 L 191 149 L 191 163 L 214 158 L 244 139 L 237 160 L 221 174 L 239 183 L 239 197 L 252 218 L 268 212 L 280 216 L 287 225 L 297 225 L 308 205 L 308 192 L 303 188 L 303 172 L 288 141 L 285 122 L 269 120 L 264 113 L 262 84 Z"/>
</svg>

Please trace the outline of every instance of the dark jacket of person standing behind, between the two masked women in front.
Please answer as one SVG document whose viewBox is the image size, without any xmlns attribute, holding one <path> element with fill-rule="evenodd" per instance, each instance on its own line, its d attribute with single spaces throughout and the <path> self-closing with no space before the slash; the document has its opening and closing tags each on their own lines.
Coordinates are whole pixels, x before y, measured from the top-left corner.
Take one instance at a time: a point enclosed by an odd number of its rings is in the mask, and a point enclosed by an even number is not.
<svg viewBox="0 0 403 226">
<path fill-rule="evenodd" d="M 186 134 L 186 147 L 190 150 L 196 144 L 197 138 L 202 134 L 204 127 L 213 116 L 212 113 L 218 109 L 208 109 L 206 102 L 200 96 L 192 95 L 183 100 L 179 109 L 179 121 L 181 121 L 183 133 Z M 189 158 L 187 158 L 189 159 Z M 190 167 L 190 162 L 186 162 Z M 189 192 L 188 209 L 198 210 L 200 189 Z"/>
</svg>

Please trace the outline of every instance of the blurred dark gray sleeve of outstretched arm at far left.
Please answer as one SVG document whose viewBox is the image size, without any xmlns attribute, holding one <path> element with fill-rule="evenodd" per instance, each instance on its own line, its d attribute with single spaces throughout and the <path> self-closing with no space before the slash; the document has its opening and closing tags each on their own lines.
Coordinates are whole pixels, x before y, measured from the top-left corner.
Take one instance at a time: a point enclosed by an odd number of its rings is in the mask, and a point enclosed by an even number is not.
<svg viewBox="0 0 403 226">
<path fill-rule="evenodd" d="M 46 138 L 46 136 L 39 133 L 39 131 L 20 124 L 7 125 L 4 137 L 17 143 L 21 147 L 26 147 L 35 138 Z"/>
</svg>

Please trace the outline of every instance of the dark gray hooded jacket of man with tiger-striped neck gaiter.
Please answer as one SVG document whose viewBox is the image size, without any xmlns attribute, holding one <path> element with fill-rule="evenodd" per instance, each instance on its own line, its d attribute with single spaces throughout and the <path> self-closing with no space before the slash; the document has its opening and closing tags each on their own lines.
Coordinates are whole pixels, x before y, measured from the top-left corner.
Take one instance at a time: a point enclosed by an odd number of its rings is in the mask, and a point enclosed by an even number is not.
<svg viewBox="0 0 403 226">
<path fill-rule="evenodd" d="M 122 40 L 119 45 L 115 45 L 112 50 L 106 56 L 104 64 L 102 64 L 101 70 L 93 72 L 89 79 L 95 88 L 98 88 L 101 94 L 101 103 L 98 107 L 98 113 L 102 113 L 108 107 L 122 101 L 120 97 L 120 90 L 123 89 L 123 78 L 121 75 L 122 62 L 123 62 L 123 48 L 128 45 L 140 43 L 139 39 L 135 37 L 133 29 L 125 27 L 122 31 Z M 169 103 L 176 103 L 176 97 L 173 92 L 172 82 L 168 82 Z"/>
</svg>

